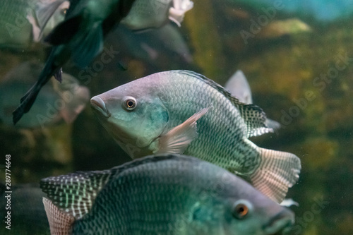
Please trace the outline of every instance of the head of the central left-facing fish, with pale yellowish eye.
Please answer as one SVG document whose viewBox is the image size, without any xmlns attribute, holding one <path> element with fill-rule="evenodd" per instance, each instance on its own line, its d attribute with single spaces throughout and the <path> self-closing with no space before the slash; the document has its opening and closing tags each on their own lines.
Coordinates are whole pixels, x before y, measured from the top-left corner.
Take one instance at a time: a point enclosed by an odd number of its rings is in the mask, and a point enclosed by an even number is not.
<svg viewBox="0 0 353 235">
<path fill-rule="evenodd" d="M 141 79 L 92 97 L 91 105 L 102 126 L 132 158 L 152 154 L 151 143 L 169 120 L 155 88 Z"/>
</svg>

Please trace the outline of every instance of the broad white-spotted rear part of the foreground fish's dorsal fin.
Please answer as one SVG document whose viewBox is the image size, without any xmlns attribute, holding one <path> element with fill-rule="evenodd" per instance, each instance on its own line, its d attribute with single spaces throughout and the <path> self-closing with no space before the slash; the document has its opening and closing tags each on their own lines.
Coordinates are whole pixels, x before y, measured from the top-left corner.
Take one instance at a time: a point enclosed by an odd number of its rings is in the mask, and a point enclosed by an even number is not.
<svg viewBox="0 0 353 235">
<path fill-rule="evenodd" d="M 111 170 L 79 171 L 42 179 L 40 188 L 59 210 L 80 219 L 90 211 L 111 174 Z"/>
</svg>

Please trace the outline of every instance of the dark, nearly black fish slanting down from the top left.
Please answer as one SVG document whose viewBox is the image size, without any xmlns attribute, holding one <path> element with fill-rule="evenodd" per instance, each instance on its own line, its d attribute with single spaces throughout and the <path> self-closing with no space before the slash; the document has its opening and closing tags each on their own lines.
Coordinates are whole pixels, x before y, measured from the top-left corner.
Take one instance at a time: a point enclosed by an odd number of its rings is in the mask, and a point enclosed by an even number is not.
<svg viewBox="0 0 353 235">
<path fill-rule="evenodd" d="M 64 2 L 64 0 L 58 0 Z M 102 51 L 103 38 L 124 18 L 134 0 L 76 0 L 71 1 L 66 18 L 46 37 L 54 45 L 37 82 L 25 93 L 13 112 L 16 124 L 35 102 L 42 86 L 52 76 L 59 81 L 61 67 L 72 59 L 78 66 L 87 66 Z M 49 8 L 55 9 L 56 4 Z"/>
</svg>

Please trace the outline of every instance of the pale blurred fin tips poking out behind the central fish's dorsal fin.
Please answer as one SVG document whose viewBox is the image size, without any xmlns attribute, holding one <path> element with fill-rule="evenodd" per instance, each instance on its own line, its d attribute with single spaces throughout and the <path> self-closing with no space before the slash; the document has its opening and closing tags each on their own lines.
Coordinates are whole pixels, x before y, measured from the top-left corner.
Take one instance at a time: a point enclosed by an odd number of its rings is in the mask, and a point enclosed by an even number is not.
<svg viewBox="0 0 353 235">
<path fill-rule="evenodd" d="M 244 104 L 253 103 L 250 85 L 248 80 L 246 80 L 244 73 L 240 70 L 235 72 L 233 76 L 227 80 L 227 83 L 225 83 L 225 90 L 228 90 L 232 96 L 236 97 Z M 273 128 L 273 130 L 277 130 L 281 127 L 281 124 L 277 121 L 267 118 L 265 124 L 266 126 Z"/>
</svg>

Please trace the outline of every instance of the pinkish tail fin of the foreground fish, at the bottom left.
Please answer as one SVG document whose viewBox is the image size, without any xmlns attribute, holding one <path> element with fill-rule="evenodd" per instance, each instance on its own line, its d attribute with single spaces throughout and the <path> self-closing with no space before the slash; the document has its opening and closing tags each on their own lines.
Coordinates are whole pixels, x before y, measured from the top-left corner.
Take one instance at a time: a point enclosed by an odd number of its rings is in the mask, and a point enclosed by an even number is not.
<svg viewBox="0 0 353 235">
<path fill-rule="evenodd" d="M 50 234 L 71 234 L 75 218 L 61 212 L 51 200 L 43 198 L 44 210 L 50 227 Z"/>
</svg>

